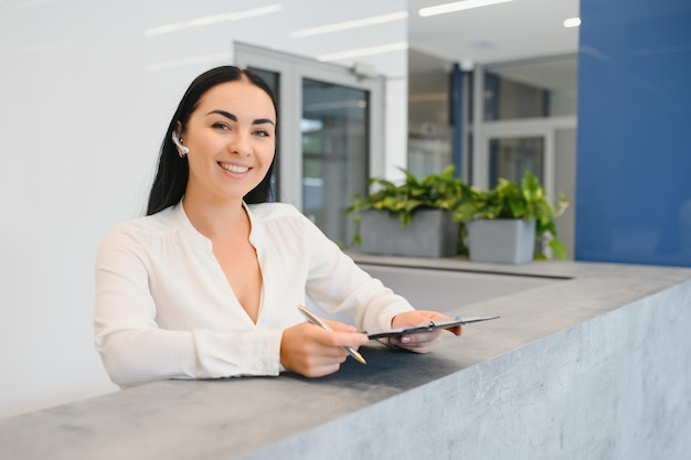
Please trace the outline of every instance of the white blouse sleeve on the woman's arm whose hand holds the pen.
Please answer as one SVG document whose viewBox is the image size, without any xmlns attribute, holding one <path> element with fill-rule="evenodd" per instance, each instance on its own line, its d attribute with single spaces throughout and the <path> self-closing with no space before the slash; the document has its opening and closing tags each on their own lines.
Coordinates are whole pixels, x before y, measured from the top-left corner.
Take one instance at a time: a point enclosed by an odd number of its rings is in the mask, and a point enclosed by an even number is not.
<svg viewBox="0 0 691 460">
<path fill-rule="evenodd" d="M 96 259 L 95 345 L 113 382 L 277 375 L 281 330 L 164 330 L 156 322 L 141 243 L 111 232 Z"/>
</svg>

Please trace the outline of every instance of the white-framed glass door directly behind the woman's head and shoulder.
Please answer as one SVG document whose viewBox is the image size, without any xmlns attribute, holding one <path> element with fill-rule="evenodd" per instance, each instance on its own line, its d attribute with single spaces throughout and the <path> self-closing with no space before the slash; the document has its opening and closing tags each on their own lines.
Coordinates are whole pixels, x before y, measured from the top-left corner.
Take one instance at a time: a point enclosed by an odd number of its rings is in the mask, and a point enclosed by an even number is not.
<svg viewBox="0 0 691 460">
<path fill-rule="evenodd" d="M 234 56 L 236 65 L 277 84 L 277 199 L 348 246 L 354 235 L 344 215 L 350 197 L 366 194 L 368 178 L 383 173 L 383 78 L 245 44 L 235 44 Z"/>
</svg>

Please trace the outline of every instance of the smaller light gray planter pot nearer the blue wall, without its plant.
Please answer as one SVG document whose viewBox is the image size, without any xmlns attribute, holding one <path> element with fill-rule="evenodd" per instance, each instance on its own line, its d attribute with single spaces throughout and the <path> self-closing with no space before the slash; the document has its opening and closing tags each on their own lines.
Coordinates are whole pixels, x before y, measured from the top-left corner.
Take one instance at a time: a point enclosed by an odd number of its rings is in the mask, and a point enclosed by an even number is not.
<svg viewBox="0 0 691 460">
<path fill-rule="evenodd" d="M 478 220 L 466 224 L 471 261 L 524 264 L 535 250 L 535 220 Z"/>
</svg>

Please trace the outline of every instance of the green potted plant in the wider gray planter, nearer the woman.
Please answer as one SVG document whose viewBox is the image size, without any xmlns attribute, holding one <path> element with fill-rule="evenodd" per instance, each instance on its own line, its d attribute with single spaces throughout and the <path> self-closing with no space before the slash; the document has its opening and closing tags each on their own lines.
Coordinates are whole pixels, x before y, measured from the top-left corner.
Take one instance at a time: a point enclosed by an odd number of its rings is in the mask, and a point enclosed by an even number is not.
<svg viewBox="0 0 691 460">
<path fill-rule="evenodd" d="M 468 186 L 454 178 L 454 167 L 418 180 L 401 169 L 400 184 L 371 178 L 376 191 L 357 194 L 346 210 L 357 225 L 354 243 L 368 254 L 408 257 L 448 257 L 457 254 L 460 224 L 454 210 Z"/>
</svg>

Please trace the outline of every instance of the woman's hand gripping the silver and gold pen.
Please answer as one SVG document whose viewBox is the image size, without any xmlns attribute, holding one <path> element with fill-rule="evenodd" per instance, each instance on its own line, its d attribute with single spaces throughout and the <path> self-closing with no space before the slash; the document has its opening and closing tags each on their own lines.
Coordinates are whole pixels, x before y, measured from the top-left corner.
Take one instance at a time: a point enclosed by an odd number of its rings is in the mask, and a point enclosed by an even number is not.
<svg viewBox="0 0 691 460">
<path fill-rule="evenodd" d="M 338 321 L 323 320 L 333 329 L 326 331 L 304 322 L 285 329 L 280 341 L 280 364 L 306 377 L 321 377 L 337 372 L 348 357 L 343 346 L 358 350 L 369 339 L 355 328 Z"/>
</svg>

